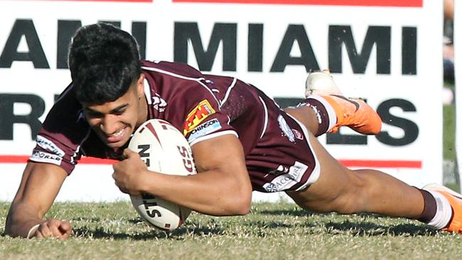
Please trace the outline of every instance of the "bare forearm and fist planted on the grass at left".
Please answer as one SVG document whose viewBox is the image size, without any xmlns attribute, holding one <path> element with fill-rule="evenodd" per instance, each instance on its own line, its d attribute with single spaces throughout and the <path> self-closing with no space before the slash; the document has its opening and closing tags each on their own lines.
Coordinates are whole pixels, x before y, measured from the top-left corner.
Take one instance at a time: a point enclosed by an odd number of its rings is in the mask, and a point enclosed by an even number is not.
<svg viewBox="0 0 462 260">
<path fill-rule="evenodd" d="M 6 217 L 5 234 L 12 237 L 68 238 L 71 231 L 68 221 L 43 220 L 67 176 L 65 170 L 53 164 L 27 163 Z"/>
</svg>

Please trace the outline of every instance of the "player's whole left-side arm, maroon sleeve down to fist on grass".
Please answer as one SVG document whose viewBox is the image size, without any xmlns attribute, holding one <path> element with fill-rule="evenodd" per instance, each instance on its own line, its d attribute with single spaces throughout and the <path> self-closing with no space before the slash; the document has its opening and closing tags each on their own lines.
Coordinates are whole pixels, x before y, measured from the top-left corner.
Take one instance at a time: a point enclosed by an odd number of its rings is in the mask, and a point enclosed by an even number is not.
<svg viewBox="0 0 462 260">
<path fill-rule="evenodd" d="M 87 122 L 81 117 L 81 109 L 70 85 L 48 112 L 11 203 L 6 234 L 12 237 L 69 237 L 68 221 L 43 220 L 43 217 L 74 169 L 81 156 L 80 145 L 90 134 Z"/>
</svg>

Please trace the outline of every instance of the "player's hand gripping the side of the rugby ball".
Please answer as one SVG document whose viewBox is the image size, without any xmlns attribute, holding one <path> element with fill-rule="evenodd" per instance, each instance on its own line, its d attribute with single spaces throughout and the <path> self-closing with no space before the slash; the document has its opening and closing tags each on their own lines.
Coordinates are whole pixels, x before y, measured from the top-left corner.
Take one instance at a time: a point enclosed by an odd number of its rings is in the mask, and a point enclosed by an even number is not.
<svg viewBox="0 0 462 260">
<path fill-rule="evenodd" d="M 112 178 L 122 193 L 141 195 L 139 188 L 142 182 L 141 173 L 146 172 L 147 166 L 138 153 L 125 148 L 124 160 L 114 163 L 112 168 L 114 169 Z"/>
</svg>

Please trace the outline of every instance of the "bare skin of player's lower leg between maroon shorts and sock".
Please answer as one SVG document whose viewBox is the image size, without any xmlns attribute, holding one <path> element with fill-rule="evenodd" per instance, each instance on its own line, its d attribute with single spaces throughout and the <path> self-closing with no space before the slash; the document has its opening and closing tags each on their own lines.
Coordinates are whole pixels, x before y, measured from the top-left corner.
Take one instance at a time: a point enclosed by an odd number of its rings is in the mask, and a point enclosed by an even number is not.
<svg viewBox="0 0 462 260">
<path fill-rule="evenodd" d="M 309 140 L 321 174 L 305 190 L 287 192 L 301 207 L 316 212 L 374 212 L 408 218 L 418 218 L 424 211 L 424 198 L 417 188 L 377 170 L 349 170 L 313 135 Z"/>
</svg>

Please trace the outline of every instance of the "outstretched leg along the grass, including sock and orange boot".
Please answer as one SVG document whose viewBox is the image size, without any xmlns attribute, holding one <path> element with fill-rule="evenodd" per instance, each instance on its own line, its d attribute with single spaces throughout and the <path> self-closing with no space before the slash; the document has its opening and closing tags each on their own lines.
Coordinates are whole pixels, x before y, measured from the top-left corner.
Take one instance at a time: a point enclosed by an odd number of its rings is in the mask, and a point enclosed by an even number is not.
<svg viewBox="0 0 462 260">
<path fill-rule="evenodd" d="M 311 134 L 311 148 L 321 173 L 300 191 L 286 193 L 301 207 L 316 212 L 372 212 L 419 220 L 436 229 L 462 233 L 462 195 L 442 185 L 423 190 L 378 170 L 349 170 Z"/>
</svg>

